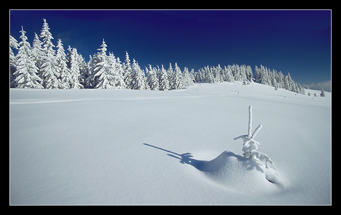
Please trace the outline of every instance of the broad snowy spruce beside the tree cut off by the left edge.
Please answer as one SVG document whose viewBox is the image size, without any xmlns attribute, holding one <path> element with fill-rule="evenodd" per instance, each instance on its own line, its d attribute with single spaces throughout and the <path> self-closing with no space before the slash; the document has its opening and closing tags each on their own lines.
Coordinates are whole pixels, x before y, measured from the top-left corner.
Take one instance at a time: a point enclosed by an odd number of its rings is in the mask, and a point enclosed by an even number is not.
<svg viewBox="0 0 341 215">
<path fill-rule="evenodd" d="M 26 32 L 22 27 L 22 42 L 19 43 L 19 52 L 16 56 L 17 71 L 13 74 L 17 88 L 44 88 L 40 82 L 41 78 L 38 77 L 38 68 L 31 59 L 31 47 L 27 42 Z"/>
</svg>

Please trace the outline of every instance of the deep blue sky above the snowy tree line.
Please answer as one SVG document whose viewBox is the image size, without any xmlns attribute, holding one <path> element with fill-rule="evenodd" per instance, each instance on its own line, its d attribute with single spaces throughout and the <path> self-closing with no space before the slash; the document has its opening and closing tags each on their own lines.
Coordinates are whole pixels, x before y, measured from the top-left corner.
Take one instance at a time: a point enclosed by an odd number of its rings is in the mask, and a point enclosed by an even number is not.
<svg viewBox="0 0 341 215">
<path fill-rule="evenodd" d="M 263 65 L 300 84 L 331 80 L 330 10 L 11 10 L 10 34 L 20 42 L 23 26 L 32 45 L 43 19 L 55 46 L 61 39 L 86 61 L 104 39 L 108 52 L 123 62 L 127 51 L 142 69 Z"/>
</svg>

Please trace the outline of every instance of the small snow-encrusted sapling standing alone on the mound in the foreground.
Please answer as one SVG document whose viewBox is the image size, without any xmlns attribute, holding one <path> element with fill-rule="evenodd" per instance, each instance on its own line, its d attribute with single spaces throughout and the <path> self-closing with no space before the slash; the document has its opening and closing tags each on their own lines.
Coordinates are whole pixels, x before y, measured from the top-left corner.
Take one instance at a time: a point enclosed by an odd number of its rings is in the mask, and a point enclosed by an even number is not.
<svg viewBox="0 0 341 215">
<path fill-rule="evenodd" d="M 254 140 L 255 136 L 259 132 L 259 130 L 262 128 L 262 125 L 260 124 L 255 131 L 252 132 L 252 106 L 249 106 L 249 125 L 248 125 L 248 134 L 241 135 L 239 137 L 234 138 L 234 140 L 242 139 L 244 141 L 243 143 L 243 155 L 246 158 L 253 158 L 263 164 L 265 164 L 266 168 L 273 168 L 277 169 L 274 162 L 270 159 L 268 155 L 265 153 L 257 151 L 258 145 L 260 145 L 259 142 Z"/>
</svg>

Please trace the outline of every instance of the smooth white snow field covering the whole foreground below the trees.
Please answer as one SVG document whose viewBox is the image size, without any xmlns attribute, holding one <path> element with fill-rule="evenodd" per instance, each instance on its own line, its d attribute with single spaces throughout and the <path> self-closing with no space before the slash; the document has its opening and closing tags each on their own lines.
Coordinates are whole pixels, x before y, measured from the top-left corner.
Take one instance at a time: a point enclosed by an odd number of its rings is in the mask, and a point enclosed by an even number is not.
<svg viewBox="0 0 341 215">
<path fill-rule="evenodd" d="M 308 92 L 10 89 L 10 204 L 331 204 L 331 93 Z M 234 140 L 249 105 L 277 170 Z"/>
</svg>

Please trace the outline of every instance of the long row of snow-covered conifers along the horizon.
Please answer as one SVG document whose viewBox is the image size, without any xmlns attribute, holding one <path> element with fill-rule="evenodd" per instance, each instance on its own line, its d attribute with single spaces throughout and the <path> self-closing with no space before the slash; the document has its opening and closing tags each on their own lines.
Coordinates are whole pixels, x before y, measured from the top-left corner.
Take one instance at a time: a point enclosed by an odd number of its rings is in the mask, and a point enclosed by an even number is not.
<svg viewBox="0 0 341 215">
<path fill-rule="evenodd" d="M 21 42 L 10 35 L 10 87 L 38 89 L 133 89 L 133 90 L 173 90 L 183 89 L 194 82 L 250 82 L 270 85 L 275 90 L 281 88 L 305 94 L 304 88 L 295 83 L 290 74 L 270 71 L 262 65 L 256 66 L 255 75 L 246 65 L 228 65 L 222 68 L 206 66 L 194 71 L 187 67 L 182 71 L 177 63 L 169 63 L 168 68 L 149 65 L 144 70 L 135 59 L 132 61 L 125 53 L 121 62 L 113 53 L 107 53 L 103 39 L 97 53 L 90 55 L 88 63 L 76 48 L 64 49 L 61 39 L 57 46 L 45 19 L 40 36 L 36 33 L 32 47 L 27 41 L 23 27 L 20 31 Z M 13 50 L 17 49 L 15 56 Z M 66 54 L 67 53 L 67 54 Z"/>
</svg>

